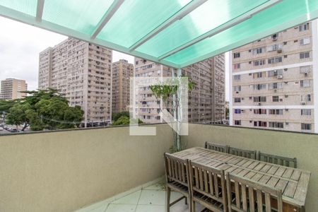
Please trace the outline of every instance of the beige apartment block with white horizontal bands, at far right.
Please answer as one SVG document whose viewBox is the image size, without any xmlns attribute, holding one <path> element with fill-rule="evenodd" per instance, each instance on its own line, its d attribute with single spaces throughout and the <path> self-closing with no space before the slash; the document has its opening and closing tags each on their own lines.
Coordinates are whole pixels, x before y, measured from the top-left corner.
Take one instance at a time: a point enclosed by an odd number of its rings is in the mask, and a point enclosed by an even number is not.
<svg viewBox="0 0 318 212">
<path fill-rule="evenodd" d="M 317 20 L 230 53 L 230 124 L 318 132 Z"/>
</svg>

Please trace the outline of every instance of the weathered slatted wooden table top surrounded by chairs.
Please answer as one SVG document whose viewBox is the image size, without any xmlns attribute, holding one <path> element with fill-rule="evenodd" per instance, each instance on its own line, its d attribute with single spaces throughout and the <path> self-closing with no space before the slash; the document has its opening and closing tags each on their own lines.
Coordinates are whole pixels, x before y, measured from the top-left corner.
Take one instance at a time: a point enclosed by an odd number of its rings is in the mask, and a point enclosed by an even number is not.
<svg viewBox="0 0 318 212">
<path fill-rule="evenodd" d="M 175 156 L 217 167 L 218 169 L 252 179 L 269 187 L 281 189 L 283 201 L 295 206 L 305 206 L 310 172 L 285 167 L 237 155 L 220 153 L 206 148 L 189 148 Z"/>
</svg>

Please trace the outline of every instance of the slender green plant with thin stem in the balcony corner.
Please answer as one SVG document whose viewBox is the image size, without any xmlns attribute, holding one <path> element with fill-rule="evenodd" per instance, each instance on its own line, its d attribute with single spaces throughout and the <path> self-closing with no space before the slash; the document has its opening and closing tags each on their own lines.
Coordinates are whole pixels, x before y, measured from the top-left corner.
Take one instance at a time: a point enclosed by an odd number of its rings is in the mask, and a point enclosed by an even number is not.
<svg viewBox="0 0 318 212">
<path fill-rule="evenodd" d="M 174 138 L 174 144 L 172 146 L 171 151 L 177 152 L 182 150 L 182 142 L 181 142 L 181 136 L 180 133 L 180 125 L 181 122 L 179 122 L 178 119 L 178 110 L 180 110 L 180 100 L 181 97 L 178 96 L 178 89 L 182 83 L 182 78 L 174 78 L 171 81 L 167 81 L 165 83 L 158 83 L 156 85 L 150 86 L 151 91 L 153 92 L 153 95 L 155 95 L 155 98 L 157 99 L 157 102 L 160 102 L 160 100 L 163 101 L 163 104 L 165 105 L 165 108 L 167 109 L 167 112 L 170 113 L 170 122 L 174 124 L 177 128 L 177 131 L 172 129 L 173 138 Z M 192 81 L 188 81 L 188 90 L 193 90 L 195 86 L 195 83 Z M 163 112 L 163 108 L 159 105 L 160 111 Z"/>
</svg>

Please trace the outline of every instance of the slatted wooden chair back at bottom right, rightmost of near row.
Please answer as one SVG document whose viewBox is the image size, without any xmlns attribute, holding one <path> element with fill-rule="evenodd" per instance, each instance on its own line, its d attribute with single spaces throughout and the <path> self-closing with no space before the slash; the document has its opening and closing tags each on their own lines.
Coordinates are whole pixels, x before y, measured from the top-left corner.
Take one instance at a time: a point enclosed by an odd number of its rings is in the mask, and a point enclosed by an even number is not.
<svg viewBox="0 0 318 212">
<path fill-rule="evenodd" d="M 283 212 L 281 190 L 267 187 L 250 179 L 226 174 L 228 210 L 240 212 Z"/>
</svg>

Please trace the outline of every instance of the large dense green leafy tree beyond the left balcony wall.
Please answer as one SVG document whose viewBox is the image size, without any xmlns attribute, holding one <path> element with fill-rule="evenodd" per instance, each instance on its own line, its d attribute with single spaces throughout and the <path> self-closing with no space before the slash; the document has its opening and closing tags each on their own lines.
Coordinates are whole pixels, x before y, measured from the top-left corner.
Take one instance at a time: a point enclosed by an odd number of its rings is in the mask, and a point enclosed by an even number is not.
<svg viewBox="0 0 318 212">
<path fill-rule="evenodd" d="M 6 105 L 10 107 L 6 115 L 7 124 L 24 124 L 22 130 L 30 126 L 35 131 L 69 129 L 81 124 L 84 114 L 81 107 L 69 107 L 64 95 L 57 90 L 26 91 L 25 93 L 29 96 L 11 106 Z"/>
</svg>

